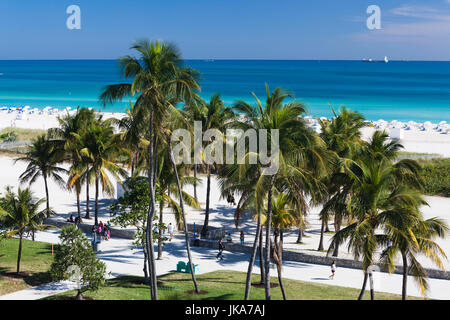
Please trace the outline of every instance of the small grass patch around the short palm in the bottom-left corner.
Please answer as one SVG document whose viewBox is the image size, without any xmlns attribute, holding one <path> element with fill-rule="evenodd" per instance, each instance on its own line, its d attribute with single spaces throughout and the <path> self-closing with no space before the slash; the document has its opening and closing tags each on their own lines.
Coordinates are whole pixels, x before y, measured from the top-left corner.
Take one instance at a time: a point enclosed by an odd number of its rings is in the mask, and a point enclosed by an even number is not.
<svg viewBox="0 0 450 320">
<path fill-rule="evenodd" d="M 53 261 L 49 243 L 23 240 L 20 275 L 16 276 L 19 239 L 0 242 L 0 295 L 51 281 L 48 270 Z"/>
</svg>

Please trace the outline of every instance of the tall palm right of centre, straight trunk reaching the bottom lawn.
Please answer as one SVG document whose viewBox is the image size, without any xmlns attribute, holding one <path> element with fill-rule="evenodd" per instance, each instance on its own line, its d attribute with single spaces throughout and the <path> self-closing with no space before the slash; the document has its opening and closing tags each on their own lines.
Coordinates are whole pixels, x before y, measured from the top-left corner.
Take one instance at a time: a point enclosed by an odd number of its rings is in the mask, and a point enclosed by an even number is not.
<svg viewBox="0 0 450 320">
<path fill-rule="evenodd" d="M 244 101 L 237 102 L 233 109 L 238 113 L 243 113 L 248 121 L 238 123 L 238 127 L 242 129 L 266 129 L 270 134 L 267 134 L 267 144 L 274 143 L 278 145 L 279 150 L 276 154 L 272 154 L 268 161 L 268 166 L 263 168 L 264 173 L 269 173 L 271 166 L 278 166 L 278 171 L 282 171 L 285 166 L 295 163 L 295 157 L 299 151 L 297 141 L 303 131 L 298 128 L 305 127 L 303 119 L 300 116 L 305 112 L 304 106 L 297 101 L 285 103 L 287 98 L 292 96 L 284 92 L 281 88 L 276 88 L 272 93 L 266 85 L 267 100 L 264 107 L 260 100 L 254 95 L 256 99 L 256 108 L 252 107 Z M 278 130 L 278 131 L 271 131 Z M 278 133 L 279 140 L 272 134 Z M 277 156 L 279 161 L 277 161 Z M 273 167 L 272 167 L 273 168 Z M 272 193 L 274 181 L 278 173 L 272 175 L 262 174 L 256 185 L 256 194 L 258 199 L 263 199 L 267 194 L 267 223 L 266 223 L 266 256 L 265 256 L 265 294 L 266 299 L 270 299 L 270 248 L 271 248 L 271 225 L 272 225 Z M 259 200 L 261 202 L 261 200 Z"/>
</svg>

